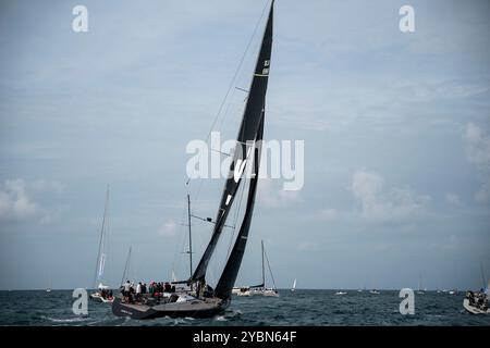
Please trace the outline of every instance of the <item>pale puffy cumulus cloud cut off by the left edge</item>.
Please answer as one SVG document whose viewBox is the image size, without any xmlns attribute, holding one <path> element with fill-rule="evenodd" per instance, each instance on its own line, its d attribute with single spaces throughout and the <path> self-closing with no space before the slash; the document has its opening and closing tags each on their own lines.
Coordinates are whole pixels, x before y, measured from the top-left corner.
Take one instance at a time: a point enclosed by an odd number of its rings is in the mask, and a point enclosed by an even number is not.
<svg viewBox="0 0 490 348">
<path fill-rule="evenodd" d="M 39 212 L 30 199 L 23 179 L 8 179 L 0 184 L 0 221 L 32 219 Z"/>
</svg>

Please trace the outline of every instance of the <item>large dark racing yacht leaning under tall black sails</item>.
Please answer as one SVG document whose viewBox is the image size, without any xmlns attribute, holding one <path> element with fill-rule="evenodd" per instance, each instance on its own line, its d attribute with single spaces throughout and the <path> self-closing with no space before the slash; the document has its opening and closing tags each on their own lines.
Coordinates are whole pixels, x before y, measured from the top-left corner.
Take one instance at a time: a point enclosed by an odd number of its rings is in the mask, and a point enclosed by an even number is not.
<svg viewBox="0 0 490 348">
<path fill-rule="evenodd" d="M 270 58 L 272 50 L 272 17 L 273 0 L 264 33 L 260 52 L 258 53 L 252 86 L 236 138 L 233 161 L 221 196 L 220 206 L 213 224 L 211 239 L 192 276 L 181 283 L 188 286 L 188 290 L 167 294 L 159 300 L 146 298 L 143 302 L 123 301 L 117 298 L 112 303 L 112 312 L 119 316 L 134 319 L 152 319 L 160 316 L 213 316 L 224 311 L 229 306 L 232 289 L 238 274 L 240 265 L 245 252 L 255 196 L 258 184 L 260 165 L 261 140 L 264 135 L 266 92 L 269 79 Z M 253 165 L 253 175 L 248 182 L 246 208 L 233 248 L 225 262 L 224 269 L 215 288 L 206 283 L 206 273 L 211 256 L 225 226 L 228 215 L 233 206 L 238 188 L 244 183 L 246 167 Z"/>
</svg>

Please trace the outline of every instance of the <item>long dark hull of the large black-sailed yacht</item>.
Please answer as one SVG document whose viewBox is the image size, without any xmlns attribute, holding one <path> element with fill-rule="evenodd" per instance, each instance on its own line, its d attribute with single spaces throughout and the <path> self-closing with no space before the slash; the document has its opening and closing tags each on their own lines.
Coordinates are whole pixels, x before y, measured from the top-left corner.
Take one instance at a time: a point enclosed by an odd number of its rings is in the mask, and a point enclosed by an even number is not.
<svg viewBox="0 0 490 348">
<path fill-rule="evenodd" d="M 156 318 L 212 318 L 223 313 L 229 302 L 219 299 L 196 300 L 193 302 L 164 303 L 157 306 L 123 303 L 120 298 L 112 302 L 112 313 L 136 320 Z"/>
</svg>

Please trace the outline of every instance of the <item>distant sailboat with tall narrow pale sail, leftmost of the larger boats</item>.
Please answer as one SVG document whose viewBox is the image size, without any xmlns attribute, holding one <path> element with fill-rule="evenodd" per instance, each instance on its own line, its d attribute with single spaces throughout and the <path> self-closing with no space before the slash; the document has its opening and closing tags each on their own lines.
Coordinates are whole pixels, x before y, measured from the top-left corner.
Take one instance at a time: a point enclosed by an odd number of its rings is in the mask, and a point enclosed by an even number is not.
<svg viewBox="0 0 490 348">
<path fill-rule="evenodd" d="M 96 288 L 97 290 L 90 294 L 89 296 L 89 298 L 96 302 L 113 301 L 113 297 L 110 296 L 111 291 L 109 286 L 103 285 L 103 283 L 101 282 L 107 259 L 108 228 L 109 228 L 109 186 L 106 191 L 106 204 L 103 207 L 102 225 L 100 227 L 99 252 L 97 257 L 96 273 L 94 277 L 94 288 Z"/>
</svg>

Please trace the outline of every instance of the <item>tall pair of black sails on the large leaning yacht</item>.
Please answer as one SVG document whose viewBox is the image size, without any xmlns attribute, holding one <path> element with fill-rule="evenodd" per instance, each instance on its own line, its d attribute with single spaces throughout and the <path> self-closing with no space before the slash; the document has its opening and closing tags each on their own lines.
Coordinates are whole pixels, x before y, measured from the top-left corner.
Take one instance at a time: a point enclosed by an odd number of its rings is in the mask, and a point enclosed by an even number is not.
<svg viewBox="0 0 490 348">
<path fill-rule="evenodd" d="M 272 17 L 273 1 L 270 7 L 269 17 L 264 34 L 260 52 L 258 54 L 254 77 L 252 79 L 247 104 L 245 107 L 242 124 L 240 126 L 238 135 L 236 138 L 236 146 L 233 161 L 230 166 L 230 174 L 226 178 L 224 190 L 221 196 L 221 202 L 218 209 L 211 240 L 209 241 L 199 261 L 199 264 L 197 265 L 193 276 L 189 279 L 191 283 L 205 283 L 206 270 L 208 268 L 209 260 L 211 259 L 211 256 L 221 236 L 221 232 L 234 201 L 235 194 L 237 192 L 237 189 L 242 182 L 245 166 L 248 162 L 253 161 L 255 163 L 256 175 L 250 179 L 245 216 L 242 222 L 237 239 L 233 247 L 233 251 L 229 257 L 224 271 L 216 288 L 216 294 L 220 294 L 220 297 L 222 298 L 228 298 L 228 293 L 230 293 L 231 295 L 231 290 L 240 269 L 240 263 L 242 261 L 243 252 L 245 250 L 246 238 L 248 235 L 252 213 L 254 210 L 255 192 L 257 189 L 258 179 L 258 167 L 260 161 L 260 149 L 256 148 L 255 144 L 262 139 L 264 132 L 264 109 L 266 104 L 266 92 L 269 80 L 270 58 L 272 51 Z"/>
</svg>

